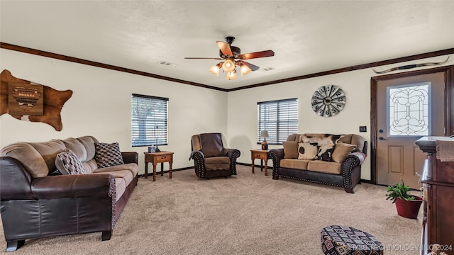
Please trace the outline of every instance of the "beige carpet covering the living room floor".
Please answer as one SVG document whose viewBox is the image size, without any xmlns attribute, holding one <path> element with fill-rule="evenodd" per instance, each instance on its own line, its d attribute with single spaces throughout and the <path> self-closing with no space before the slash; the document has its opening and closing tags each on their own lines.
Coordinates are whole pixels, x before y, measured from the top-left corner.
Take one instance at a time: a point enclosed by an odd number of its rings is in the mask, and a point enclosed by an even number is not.
<svg viewBox="0 0 454 255">
<path fill-rule="evenodd" d="M 399 217 L 386 187 L 343 188 L 272 180 L 238 166 L 228 179 L 139 179 L 110 241 L 101 233 L 27 240 L 20 254 L 323 254 L 320 230 L 348 225 L 374 234 L 385 254 L 418 254 L 419 220 Z M 4 252 L 3 231 L 0 249 Z"/>
</svg>

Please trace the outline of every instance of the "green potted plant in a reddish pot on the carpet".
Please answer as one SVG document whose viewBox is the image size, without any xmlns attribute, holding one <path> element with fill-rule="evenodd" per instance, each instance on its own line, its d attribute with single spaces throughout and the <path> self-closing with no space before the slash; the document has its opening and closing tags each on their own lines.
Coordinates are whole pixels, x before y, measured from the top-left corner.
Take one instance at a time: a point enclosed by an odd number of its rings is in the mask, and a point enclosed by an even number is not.
<svg viewBox="0 0 454 255">
<path fill-rule="evenodd" d="M 386 199 L 392 200 L 396 204 L 397 214 L 409 219 L 417 219 L 419 208 L 423 202 L 420 196 L 409 194 L 410 188 L 405 185 L 404 180 L 400 183 L 394 183 L 387 188 Z"/>
</svg>

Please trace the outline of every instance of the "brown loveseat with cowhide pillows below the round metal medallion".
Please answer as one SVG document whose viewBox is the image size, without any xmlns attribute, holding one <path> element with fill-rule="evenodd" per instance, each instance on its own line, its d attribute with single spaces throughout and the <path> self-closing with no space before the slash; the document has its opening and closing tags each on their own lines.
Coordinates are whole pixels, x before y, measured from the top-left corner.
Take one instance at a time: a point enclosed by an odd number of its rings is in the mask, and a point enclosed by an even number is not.
<svg viewBox="0 0 454 255">
<path fill-rule="evenodd" d="M 293 134 L 271 149 L 272 179 L 279 177 L 338 186 L 348 193 L 360 183 L 367 141 L 360 135 Z"/>
</svg>

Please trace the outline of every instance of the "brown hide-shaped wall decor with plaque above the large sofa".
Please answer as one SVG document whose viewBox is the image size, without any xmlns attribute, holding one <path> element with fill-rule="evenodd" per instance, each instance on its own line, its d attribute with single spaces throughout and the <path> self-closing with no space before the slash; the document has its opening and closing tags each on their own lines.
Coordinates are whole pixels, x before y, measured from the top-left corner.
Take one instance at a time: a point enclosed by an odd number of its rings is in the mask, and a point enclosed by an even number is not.
<svg viewBox="0 0 454 255">
<path fill-rule="evenodd" d="M 11 89 L 10 86 L 15 86 L 15 89 Z M 40 89 L 41 87 L 42 89 Z M 13 95 L 10 95 L 9 91 Z M 31 81 L 13 77 L 11 72 L 6 69 L 1 72 L 0 115 L 9 113 L 13 118 L 18 120 L 47 123 L 55 128 L 55 130 L 61 131 L 63 125 L 60 111 L 62 111 L 63 105 L 71 96 L 71 90 L 57 91 L 49 86 L 35 84 Z M 40 100 L 42 103 L 41 106 L 43 107 L 41 109 L 42 114 L 39 109 Z M 12 103 L 14 108 L 11 113 L 10 103 Z M 33 109 L 35 107 L 38 109 Z M 21 111 L 23 111 L 23 114 L 20 114 Z"/>
</svg>

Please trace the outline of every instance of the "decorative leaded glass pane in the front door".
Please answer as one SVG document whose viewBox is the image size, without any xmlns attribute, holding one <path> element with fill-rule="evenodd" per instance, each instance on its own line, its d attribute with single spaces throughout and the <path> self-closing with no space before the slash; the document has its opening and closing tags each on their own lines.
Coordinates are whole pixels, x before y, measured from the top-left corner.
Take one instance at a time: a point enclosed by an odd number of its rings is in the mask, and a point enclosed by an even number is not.
<svg viewBox="0 0 454 255">
<path fill-rule="evenodd" d="M 388 136 L 431 134 L 430 82 L 387 87 Z"/>
</svg>

